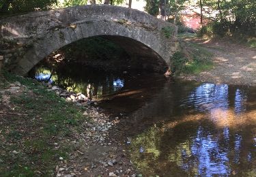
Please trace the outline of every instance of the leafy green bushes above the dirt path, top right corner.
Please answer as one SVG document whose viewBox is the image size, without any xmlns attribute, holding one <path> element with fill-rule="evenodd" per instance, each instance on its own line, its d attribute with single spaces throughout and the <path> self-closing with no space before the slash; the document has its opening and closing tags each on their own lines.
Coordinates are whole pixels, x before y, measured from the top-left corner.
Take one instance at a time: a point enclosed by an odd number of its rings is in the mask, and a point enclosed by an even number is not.
<svg viewBox="0 0 256 177">
<path fill-rule="evenodd" d="M 231 36 L 242 33 L 256 35 L 256 1 L 255 0 L 206 0 L 204 5 L 218 12 L 208 27 L 203 27 L 199 35 Z"/>
</svg>

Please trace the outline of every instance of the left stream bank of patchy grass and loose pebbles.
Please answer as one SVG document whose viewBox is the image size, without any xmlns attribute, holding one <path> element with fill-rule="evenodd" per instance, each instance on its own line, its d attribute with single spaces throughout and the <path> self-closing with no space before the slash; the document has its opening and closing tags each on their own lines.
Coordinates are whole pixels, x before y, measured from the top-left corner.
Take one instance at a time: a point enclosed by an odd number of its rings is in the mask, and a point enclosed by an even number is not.
<svg viewBox="0 0 256 177">
<path fill-rule="evenodd" d="M 126 145 L 109 135 L 119 117 L 30 78 L 0 77 L 0 176 L 136 176 Z"/>
</svg>

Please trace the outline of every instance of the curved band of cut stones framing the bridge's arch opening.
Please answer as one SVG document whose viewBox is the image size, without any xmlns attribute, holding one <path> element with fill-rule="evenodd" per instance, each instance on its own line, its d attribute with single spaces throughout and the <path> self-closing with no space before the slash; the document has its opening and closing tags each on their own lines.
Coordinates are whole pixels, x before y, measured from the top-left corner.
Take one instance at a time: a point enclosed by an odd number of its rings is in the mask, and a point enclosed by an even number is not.
<svg viewBox="0 0 256 177">
<path fill-rule="evenodd" d="M 25 75 L 39 61 L 59 48 L 87 37 L 102 36 L 122 46 L 130 57 L 169 63 L 169 48 L 160 33 L 111 20 L 89 20 L 38 35 L 14 72 Z"/>
</svg>

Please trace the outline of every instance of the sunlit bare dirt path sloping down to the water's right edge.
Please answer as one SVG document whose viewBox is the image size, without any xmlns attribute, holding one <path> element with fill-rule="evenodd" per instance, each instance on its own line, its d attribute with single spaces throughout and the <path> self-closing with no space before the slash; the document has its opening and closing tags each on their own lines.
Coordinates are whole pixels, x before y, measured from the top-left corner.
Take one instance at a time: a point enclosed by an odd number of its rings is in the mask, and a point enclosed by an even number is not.
<svg viewBox="0 0 256 177">
<path fill-rule="evenodd" d="M 203 71 L 198 76 L 186 76 L 189 80 L 256 86 L 255 49 L 197 37 L 186 40 L 200 44 L 214 54 L 214 69 Z"/>
</svg>

